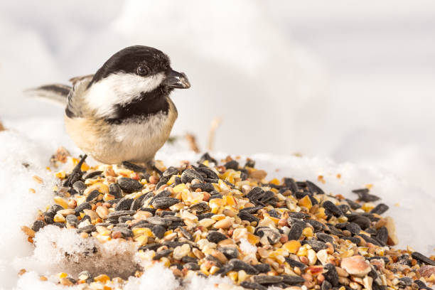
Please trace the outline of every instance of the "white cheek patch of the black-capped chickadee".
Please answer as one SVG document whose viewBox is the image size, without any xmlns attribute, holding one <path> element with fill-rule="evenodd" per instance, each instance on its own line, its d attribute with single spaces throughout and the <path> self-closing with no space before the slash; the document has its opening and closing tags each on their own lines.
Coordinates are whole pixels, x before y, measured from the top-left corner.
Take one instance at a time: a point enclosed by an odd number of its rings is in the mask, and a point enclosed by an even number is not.
<svg viewBox="0 0 435 290">
<path fill-rule="evenodd" d="M 86 96 L 87 102 L 98 116 L 110 117 L 117 104 L 128 104 L 141 92 L 151 92 L 159 87 L 164 78 L 163 73 L 149 77 L 131 73 L 112 74 L 92 84 Z"/>
</svg>

